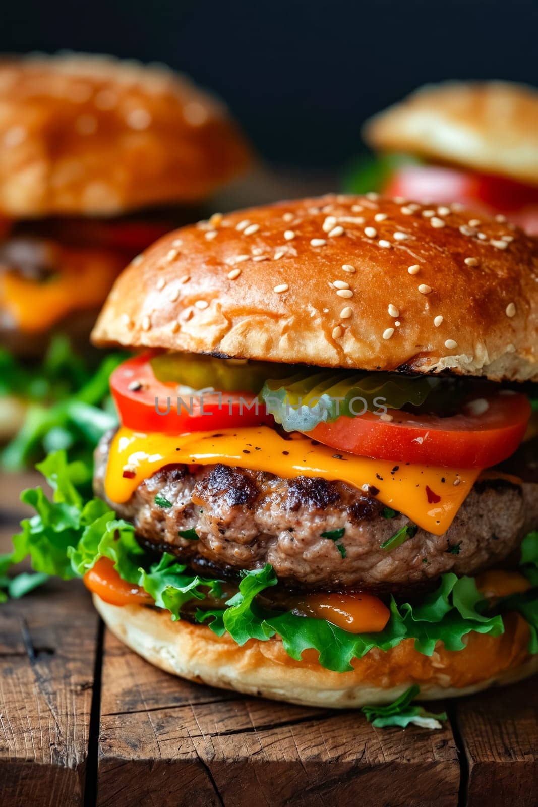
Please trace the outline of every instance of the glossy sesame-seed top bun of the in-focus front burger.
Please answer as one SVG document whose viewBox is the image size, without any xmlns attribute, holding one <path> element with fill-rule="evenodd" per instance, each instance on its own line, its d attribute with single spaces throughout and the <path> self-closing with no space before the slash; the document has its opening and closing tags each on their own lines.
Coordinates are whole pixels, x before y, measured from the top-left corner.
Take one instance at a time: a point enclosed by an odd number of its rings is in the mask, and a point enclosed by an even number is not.
<svg viewBox="0 0 538 807">
<path fill-rule="evenodd" d="M 470 224 L 469 224 L 470 221 Z M 538 378 L 538 240 L 453 205 L 299 199 L 170 233 L 115 283 L 98 345 Z"/>
</svg>

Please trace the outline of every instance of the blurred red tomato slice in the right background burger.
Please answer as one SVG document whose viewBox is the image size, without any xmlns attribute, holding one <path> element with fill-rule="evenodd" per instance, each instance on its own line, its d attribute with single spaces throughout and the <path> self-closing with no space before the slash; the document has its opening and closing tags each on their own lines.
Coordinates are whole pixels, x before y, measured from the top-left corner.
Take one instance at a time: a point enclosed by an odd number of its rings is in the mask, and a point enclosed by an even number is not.
<svg viewBox="0 0 538 807">
<path fill-rule="evenodd" d="M 538 188 L 505 177 L 440 165 L 402 165 L 390 178 L 385 193 L 435 204 L 461 202 L 491 215 L 506 213 L 528 232 L 538 230 Z"/>
</svg>

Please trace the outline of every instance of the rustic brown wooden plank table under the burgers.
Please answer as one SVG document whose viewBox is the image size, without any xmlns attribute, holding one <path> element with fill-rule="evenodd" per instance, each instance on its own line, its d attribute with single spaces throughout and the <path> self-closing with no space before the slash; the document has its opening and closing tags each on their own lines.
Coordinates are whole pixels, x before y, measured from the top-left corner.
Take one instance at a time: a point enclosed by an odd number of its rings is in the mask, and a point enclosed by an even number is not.
<svg viewBox="0 0 538 807">
<path fill-rule="evenodd" d="M 0 551 L 31 475 L 0 478 Z M 538 804 L 536 679 L 376 730 L 189 684 L 102 629 L 78 581 L 0 606 L 0 805 Z"/>
</svg>

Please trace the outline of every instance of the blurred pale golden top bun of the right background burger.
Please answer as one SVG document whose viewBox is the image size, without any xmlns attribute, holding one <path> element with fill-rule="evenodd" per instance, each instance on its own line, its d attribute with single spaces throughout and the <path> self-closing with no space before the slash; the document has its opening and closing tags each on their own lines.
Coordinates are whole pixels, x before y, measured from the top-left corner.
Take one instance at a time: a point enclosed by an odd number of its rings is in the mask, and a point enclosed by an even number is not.
<svg viewBox="0 0 538 807">
<path fill-rule="evenodd" d="M 367 143 L 538 185 L 538 91 L 509 82 L 424 86 L 366 124 Z"/>
</svg>

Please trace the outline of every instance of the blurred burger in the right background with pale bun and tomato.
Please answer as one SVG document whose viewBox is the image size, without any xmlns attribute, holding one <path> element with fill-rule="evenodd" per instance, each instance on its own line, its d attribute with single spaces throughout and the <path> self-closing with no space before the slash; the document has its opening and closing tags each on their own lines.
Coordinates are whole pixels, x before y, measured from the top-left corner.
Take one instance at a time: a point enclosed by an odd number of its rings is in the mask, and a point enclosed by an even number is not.
<svg viewBox="0 0 538 807">
<path fill-rule="evenodd" d="M 444 82 L 374 115 L 363 131 L 381 155 L 378 190 L 538 233 L 538 91 L 511 82 Z M 352 185 L 361 183 L 361 171 Z"/>
</svg>

